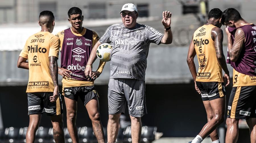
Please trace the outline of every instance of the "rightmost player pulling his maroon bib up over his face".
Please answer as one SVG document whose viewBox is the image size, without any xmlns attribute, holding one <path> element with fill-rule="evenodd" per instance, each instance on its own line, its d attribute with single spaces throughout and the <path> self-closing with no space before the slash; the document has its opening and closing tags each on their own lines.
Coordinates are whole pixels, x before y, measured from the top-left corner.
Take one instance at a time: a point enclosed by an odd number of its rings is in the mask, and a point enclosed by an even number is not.
<svg viewBox="0 0 256 143">
<path fill-rule="evenodd" d="M 246 119 L 251 142 L 256 142 L 256 26 L 234 8 L 223 12 L 228 54 L 233 69 L 233 88 L 228 101 L 226 143 L 237 142 L 239 119 Z"/>
</svg>

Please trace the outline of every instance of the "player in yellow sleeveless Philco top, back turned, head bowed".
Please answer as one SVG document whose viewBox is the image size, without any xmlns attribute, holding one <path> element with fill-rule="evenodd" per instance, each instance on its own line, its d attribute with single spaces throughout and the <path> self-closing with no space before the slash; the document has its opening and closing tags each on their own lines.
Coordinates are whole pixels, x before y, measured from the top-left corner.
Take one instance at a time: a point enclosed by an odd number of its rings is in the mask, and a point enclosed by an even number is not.
<svg viewBox="0 0 256 143">
<path fill-rule="evenodd" d="M 224 121 L 226 103 L 223 78 L 227 79 L 226 86 L 229 84 L 229 71 L 222 49 L 221 16 L 220 9 L 210 10 L 208 23 L 195 31 L 189 45 L 187 64 L 195 81 L 195 89 L 201 94 L 208 119 L 208 123 L 191 141 L 192 143 L 201 143 L 208 135 L 212 142 L 220 142 L 217 127 Z M 197 73 L 195 55 L 199 63 Z M 222 77 L 222 69 L 225 72 L 224 77 Z"/>
</svg>

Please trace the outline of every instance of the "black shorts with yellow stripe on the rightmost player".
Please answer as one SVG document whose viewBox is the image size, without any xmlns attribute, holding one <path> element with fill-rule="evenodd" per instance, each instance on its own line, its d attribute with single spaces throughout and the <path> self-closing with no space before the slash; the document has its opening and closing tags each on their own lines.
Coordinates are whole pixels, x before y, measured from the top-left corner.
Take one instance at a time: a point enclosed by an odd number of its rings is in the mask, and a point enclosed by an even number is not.
<svg viewBox="0 0 256 143">
<path fill-rule="evenodd" d="M 228 118 L 256 118 L 256 86 L 232 88 L 228 101 Z"/>
</svg>

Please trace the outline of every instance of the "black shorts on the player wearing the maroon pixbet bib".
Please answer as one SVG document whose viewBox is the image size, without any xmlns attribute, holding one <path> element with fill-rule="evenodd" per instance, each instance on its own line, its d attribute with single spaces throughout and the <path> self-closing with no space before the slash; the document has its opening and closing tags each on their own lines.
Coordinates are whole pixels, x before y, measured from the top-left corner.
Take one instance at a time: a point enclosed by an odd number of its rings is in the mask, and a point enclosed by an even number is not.
<svg viewBox="0 0 256 143">
<path fill-rule="evenodd" d="M 85 106 L 93 97 L 98 97 L 98 93 L 94 86 L 75 86 L 64 88 L 64 96 L 76 101 L 80 97 Z"/>
</svg>

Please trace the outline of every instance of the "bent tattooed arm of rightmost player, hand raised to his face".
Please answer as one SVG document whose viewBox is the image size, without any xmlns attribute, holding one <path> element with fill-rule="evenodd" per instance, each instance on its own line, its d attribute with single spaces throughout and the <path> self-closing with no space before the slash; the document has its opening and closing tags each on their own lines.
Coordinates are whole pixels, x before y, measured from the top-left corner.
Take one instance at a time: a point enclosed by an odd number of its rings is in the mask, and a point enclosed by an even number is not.
<svg viewBox="0 0 256 143">
<path fill-rule="evenodd" d="M 226 28 L 226 33 L 227 33 L 227 30 L 228 28 Z M 235 62 L 238 59 L 243 49 L 244 42 L 245 42 L 245 34 L 241 28 L 238 28 L 235 33 L 234 43 L 232 43 L 232 39 L 231 39 L 232 37 L 229 31 L 227 35 L 228 35 L 228 54 L 229 54 L 230 60 L 232 62 Z"/>
</svg>

